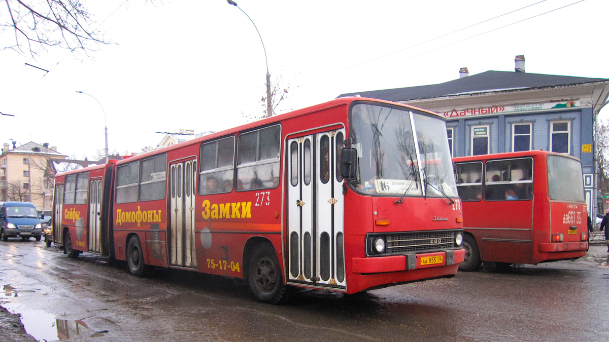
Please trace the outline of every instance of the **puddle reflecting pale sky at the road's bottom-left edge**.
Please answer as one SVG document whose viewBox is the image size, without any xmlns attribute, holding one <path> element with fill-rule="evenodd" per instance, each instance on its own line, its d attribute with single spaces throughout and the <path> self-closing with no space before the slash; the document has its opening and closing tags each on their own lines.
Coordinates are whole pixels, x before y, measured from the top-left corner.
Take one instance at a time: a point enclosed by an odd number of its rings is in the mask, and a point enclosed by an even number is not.
<svg viewBox="0 0 609 342">
<path fill-rule="evenodd" d="M 23 293 L 33 293 L 38 289 L 15 288 L 11 285 L 4 285 L 4 297 L 12 298 L 23 296 Z M 0 298 L 1 299 L 1 298 Z M 32 335 L 38 341 L 58 341 L 67 340 L 76 335 L 85 335 L 88 337 L 101 337 L 107 331 L 96 332 L 91 330 L 85 322 L 74 321 L 70 319 L 55 319 L 51 313 L 41 310 L 27 310 L 23 304 L 19 302 L 0 301 L 2 307 L 9 310 L 10 313 L 21 316 L 21 323 L 26 329 L 26 332 Z"/>
</svg>

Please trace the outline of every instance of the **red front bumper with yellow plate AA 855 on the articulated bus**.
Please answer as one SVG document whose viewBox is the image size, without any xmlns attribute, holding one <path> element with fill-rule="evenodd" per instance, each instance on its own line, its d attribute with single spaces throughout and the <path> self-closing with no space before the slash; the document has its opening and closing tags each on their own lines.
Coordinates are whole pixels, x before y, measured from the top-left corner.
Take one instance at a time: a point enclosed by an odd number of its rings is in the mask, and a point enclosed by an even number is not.
<svg viewBox="0 0 609 342">
<path fill-rule="evenodd" d="M 430 257 L 442 256 L 440 263 L 421 263 Z M 406 254 L 400 256 L 383 257 L 354 257 L 351 258 L 351 269 L 353 273 L 386 273 L 438 266 L 459 264 L 465 259 L 465 250 L 450 250 L 435 253 Z"/>
</svg>

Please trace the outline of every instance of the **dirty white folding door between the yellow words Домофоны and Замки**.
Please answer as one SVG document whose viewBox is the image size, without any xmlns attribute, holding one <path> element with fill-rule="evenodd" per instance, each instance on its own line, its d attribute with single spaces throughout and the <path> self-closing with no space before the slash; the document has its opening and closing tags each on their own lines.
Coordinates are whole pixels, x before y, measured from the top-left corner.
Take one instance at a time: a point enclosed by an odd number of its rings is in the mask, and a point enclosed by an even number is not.
<svg viewBox="0 0 609 342">
<path fill-rule="evenodd" d="M 192 159 L 171 164 L 171 265 L 197 267 L 194 239 L 195 189 L 197 161 Z"/>
</svg>

